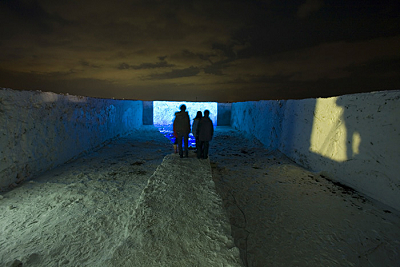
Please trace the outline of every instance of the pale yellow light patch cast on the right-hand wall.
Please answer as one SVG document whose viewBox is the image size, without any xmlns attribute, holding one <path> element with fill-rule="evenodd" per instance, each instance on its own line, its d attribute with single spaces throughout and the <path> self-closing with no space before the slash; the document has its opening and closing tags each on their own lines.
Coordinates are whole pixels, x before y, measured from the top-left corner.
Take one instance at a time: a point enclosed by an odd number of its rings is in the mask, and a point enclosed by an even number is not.
<svg viewBox="0 0 400 267">
<path fill-rule="evenodd" d="M 344 108 L 337 105 L 336 101 L 336 97 L 317 99 L 310 151 L 331 160 L 343 162 L 348 159 L 347 132 L 343 119 Z M 357 136 L 354 138 L 357 139 Z M 359 143 L 358 141 L 358 145 Z M 358 151 L 357 142 L 353 142 L 353 145 L 355 146 L 353 151 Z"/>
</svg>

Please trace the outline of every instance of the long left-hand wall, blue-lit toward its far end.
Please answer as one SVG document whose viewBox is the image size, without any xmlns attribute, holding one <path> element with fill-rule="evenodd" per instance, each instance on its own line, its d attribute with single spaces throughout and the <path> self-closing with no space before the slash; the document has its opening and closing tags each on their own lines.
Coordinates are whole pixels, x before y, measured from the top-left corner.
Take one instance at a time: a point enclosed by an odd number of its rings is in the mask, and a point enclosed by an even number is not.
<svg viewBox="0 0 400 267">
<path fill-rule="evenodd" d="M 142 101 L 0 89 L 0 190 L 142 126 Z"/>
</svg>

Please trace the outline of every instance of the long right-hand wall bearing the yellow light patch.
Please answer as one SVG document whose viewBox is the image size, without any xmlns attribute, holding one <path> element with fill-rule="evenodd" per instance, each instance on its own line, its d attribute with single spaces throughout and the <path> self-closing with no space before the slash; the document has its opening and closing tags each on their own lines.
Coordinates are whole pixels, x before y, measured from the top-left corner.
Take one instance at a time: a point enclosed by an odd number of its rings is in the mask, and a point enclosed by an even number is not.
<svg viewBox="0 0 400 267">
<path fill-rule="evenodd" d="M 231 126 L 400 210 L 400 91 L 233 103 Z"/>
</svg>

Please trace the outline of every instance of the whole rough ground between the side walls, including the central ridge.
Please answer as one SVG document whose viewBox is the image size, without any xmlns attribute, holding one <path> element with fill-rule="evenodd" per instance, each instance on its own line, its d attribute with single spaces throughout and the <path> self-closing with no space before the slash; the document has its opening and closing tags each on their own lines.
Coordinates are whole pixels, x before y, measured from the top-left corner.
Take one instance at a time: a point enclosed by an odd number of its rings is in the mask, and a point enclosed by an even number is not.
<svg viewBox="0 0 400 267">
<path fill-rule="evenodd" d="M 147 127 L 3 194 L 0 266 L 400 262 L 398 214 L 232 128 L 210 161 L 172 152 Z"/>
</svg>

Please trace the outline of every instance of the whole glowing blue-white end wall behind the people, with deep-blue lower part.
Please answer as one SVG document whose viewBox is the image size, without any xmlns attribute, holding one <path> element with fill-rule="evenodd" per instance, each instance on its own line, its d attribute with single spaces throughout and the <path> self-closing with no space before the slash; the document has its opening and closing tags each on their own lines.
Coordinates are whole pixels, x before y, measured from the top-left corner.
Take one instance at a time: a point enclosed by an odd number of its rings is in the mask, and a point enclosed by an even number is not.
<svg viewBox="0 0 400 267">
<path fill-rule="evenodd" d="M 180 106 L 185 104 L 186 111 L 189 113 L 190 127 L 197 111 L 204 114 L 205 110 L 210 111 L 210 119 L 214 127 L 217 125 L 218 103 L 217 102 L 184 102 L 184 101 L 153 101 L 153 124 L 158 130 L 167 137 L 171 143 L 175 142 L 173 135 L 173 122 L 175 112 L 180 111 Z M 192 133 L 189 134 L 189 148 L 196 147 L 196 141 Z"/>
</svg>

